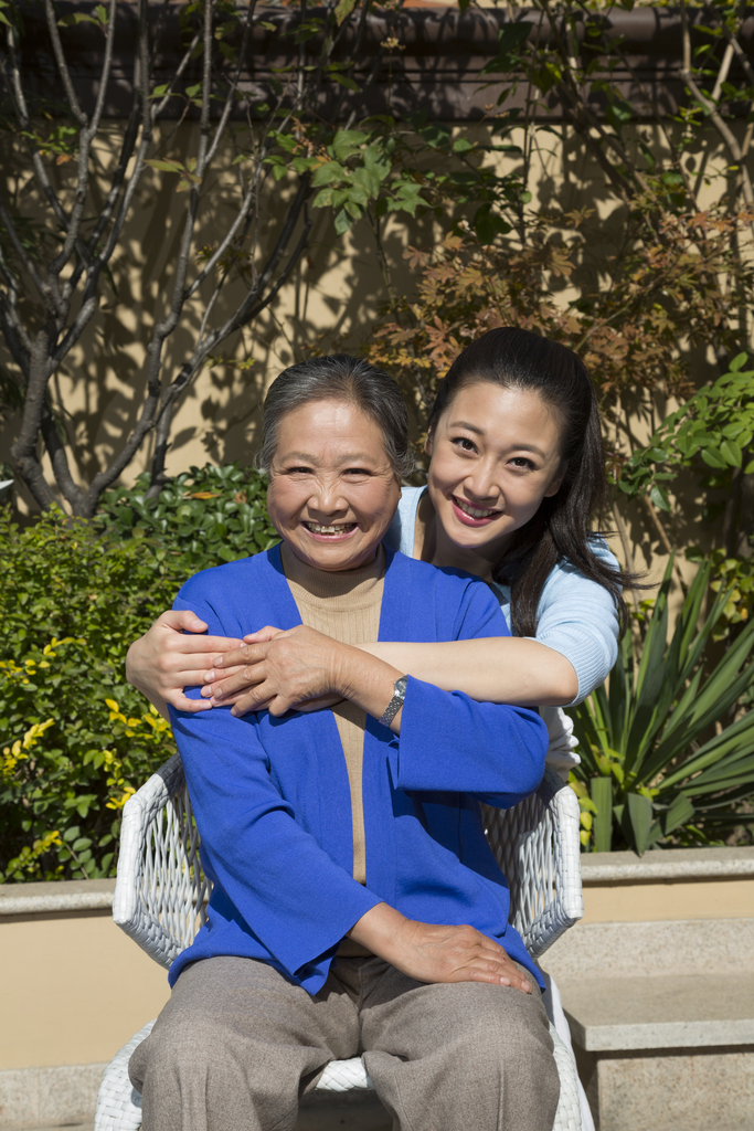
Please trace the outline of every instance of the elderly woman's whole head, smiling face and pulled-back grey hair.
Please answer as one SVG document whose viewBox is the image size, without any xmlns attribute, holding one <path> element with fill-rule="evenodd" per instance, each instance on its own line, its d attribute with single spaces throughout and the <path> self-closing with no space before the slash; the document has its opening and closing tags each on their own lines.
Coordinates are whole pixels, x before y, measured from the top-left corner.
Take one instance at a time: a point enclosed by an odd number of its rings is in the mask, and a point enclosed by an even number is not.
<svg viewBox="0 0 754 1131">
<path fill-rule="evenodd" d="M 286 407 L 277 390 L 272 420 L 268 395 L 262 452 L 275 528 L 301 561 L 328 572 L 358 569 L 374 560 L 396 512 L 400 473 L 409 459 L 405 408 L 387 374 L 358 359 L 336 355 L 293 366 L 281 378 L 295 370 L 303 370 L 305 378 L 318 364 L 335 361 L 346 370 L 345 380 L 318 382 L 310 389 L 314 398 L 300 404 L 296 394 L 303 395 L 305 382 L 289 381 L 293 396 Z M 347 363 L 365 373 L 361 386 L 349 387 L 354 374 Z M 384 412 L 385 395 L 395 402 L 395 420 Z"/>
</svg>

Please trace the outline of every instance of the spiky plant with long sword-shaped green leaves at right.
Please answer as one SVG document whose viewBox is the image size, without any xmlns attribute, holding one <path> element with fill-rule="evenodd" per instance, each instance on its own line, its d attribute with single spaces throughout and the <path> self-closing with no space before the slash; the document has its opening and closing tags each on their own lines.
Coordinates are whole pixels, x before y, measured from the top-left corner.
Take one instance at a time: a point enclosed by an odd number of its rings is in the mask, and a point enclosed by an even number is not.
<svg viewBox="0 0 754 1131">
<path fill-rule="evenodd" d="M 582 758 L 573 784 L 589 814 L 582 841 L 595 852 L 625 841 L 642 855 L 682 830 L 704 843 L 710 829 L 740 823 L 736 803 L 754 794 L 754 711 L 726 724 L 754 684 L 754 622 L 710 670 L 707 645 L 728 592 L 700 628 L 708 562 L 668 644 L 671 564 L 642 625 L 639 662 L 626 633 L 608 684 L 570 711 Z"/>
</svg>

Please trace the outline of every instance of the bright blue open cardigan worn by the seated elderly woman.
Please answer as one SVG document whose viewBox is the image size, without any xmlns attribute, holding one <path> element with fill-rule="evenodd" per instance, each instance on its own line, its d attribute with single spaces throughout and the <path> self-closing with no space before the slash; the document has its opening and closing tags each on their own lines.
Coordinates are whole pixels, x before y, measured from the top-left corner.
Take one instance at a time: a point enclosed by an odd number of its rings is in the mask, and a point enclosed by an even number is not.
<svg viewBox="0 0 754 1131">
<path fill-rule="evenodd" d="M 198 573 L 174 607 L 193 610 L 219 636 L 301 624 L 277 546 Z M 505 634 L 484 582 L 387 551 L 381 640 Z M 331 710 L 234 718 L 223 707 L 171 708 L 171 717 L 215 886 L 208 922 L 173 962 L 171 985 L 189 962 L 239 955 L 314 994 L 346 932 L 383 900 L 425 923 L 471 924 L 541 985 L 508 924 L 508 884 L 478 804 L 504 809 L 537 788 L 547 729 L 535 711 L 409 677 L 400 737 L 367 716 L 366 886 L 352 874 L 348 774 Z"/>
</svg>

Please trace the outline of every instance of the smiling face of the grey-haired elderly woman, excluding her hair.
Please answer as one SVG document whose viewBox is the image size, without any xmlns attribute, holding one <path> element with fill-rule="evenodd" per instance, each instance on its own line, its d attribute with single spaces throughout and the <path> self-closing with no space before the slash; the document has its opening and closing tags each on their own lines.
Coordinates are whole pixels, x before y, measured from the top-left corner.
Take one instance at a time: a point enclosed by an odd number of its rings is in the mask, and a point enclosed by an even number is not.
<svg viewBox="0 0 754 1131">
<path fill-rule="evenodd" d="M 279 423 L 267 506 L 295 555 L 327 571 L 373 561 L 400 498 L 380 428 L 349 400 L 314 400 Z"/>
</svg>

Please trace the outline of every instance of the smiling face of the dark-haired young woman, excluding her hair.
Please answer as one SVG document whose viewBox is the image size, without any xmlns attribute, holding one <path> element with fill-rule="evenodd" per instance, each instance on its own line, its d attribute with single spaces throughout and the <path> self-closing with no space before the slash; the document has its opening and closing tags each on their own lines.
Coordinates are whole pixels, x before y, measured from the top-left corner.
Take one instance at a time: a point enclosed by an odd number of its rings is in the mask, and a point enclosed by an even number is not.
<svg viewBox="0 0 754 1131">
<path fill-rule="evenodd" d="M 489 579 L 512 534 L 562 483 L 560 421 L 531 389 L 480 381 L 453 397 L 426 450 L 432 561 Z"/>
</svg>

